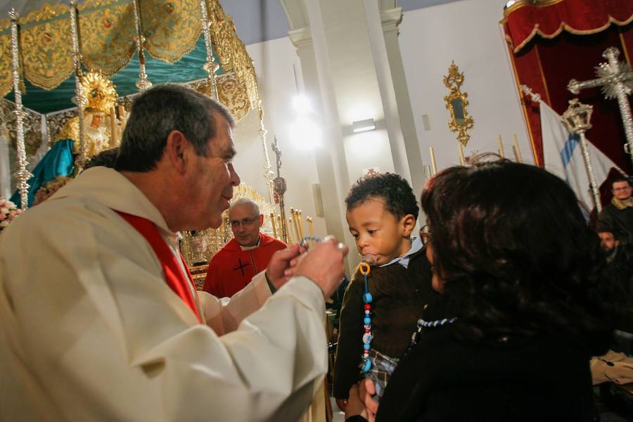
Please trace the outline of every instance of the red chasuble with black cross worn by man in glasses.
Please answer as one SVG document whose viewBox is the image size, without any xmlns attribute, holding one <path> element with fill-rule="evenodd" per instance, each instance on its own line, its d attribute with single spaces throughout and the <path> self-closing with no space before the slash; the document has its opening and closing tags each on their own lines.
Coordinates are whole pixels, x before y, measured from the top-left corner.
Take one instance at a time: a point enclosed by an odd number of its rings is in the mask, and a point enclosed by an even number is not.
<svg viewBox="0 0 633 422">
<path fill-rule="evenodd" d="M 230 298 L 268 267 L 274 252 L 285 248 L 286 243 L 263 233 L 260 245 L 250 250 L 242 250 L 235 238 L 231 239 L 209 262 L 204 290 L 217 298 Z"/>
</svg>

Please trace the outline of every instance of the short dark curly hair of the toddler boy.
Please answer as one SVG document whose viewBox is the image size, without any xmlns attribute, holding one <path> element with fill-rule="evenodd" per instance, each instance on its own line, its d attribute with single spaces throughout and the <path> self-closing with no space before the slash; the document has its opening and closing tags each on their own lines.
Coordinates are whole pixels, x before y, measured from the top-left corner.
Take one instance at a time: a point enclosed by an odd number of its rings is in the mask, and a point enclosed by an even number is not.
<svg viewBox="0 0 633 422">
<path fill-rule="evenodd" d="M 385 209 L 391 212 L 397 220 L 407 214 L 418 218 L 418 203 L 416 195 L 409 183 L 399 174 L 373 174 L 358 179 L 345 197 L 347 211 L 353 210 L 367 200 L 382 198 Z"/>
</svg>

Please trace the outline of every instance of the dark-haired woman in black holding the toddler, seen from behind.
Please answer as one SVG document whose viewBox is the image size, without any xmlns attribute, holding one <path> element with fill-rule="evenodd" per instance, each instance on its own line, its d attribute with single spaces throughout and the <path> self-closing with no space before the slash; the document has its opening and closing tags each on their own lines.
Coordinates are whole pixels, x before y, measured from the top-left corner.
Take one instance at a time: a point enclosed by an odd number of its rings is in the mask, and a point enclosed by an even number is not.
<svg viewBox="0 0 633 422">
<path fill-rule="evenodd" d="M 421 205 L 442 299 L 376 420 L 596 420 L 589 359 L 607 350 L 620 299 L 570 188 L 500 160 L 440 172 Z M 352 387 L 350 421 L 373 419 L 364 397 L 367 409 Z"/>
</svg>

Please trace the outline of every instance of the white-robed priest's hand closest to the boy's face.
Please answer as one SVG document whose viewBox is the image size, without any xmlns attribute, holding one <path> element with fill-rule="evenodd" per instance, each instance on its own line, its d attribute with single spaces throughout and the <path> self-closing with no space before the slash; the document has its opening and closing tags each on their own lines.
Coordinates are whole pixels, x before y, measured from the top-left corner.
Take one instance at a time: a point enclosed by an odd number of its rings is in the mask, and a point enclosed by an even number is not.
<svg viewBox="0 0 633 422">
<path fill-rule="evenodd" d="M 300 256 L 294 275 L 306 276 L 314 281 L 323 291 L 324 298 L 328 299 L 343 281 L 343 259 L 347 252 L 346 245 L 328 236 Z"/>
</svg>

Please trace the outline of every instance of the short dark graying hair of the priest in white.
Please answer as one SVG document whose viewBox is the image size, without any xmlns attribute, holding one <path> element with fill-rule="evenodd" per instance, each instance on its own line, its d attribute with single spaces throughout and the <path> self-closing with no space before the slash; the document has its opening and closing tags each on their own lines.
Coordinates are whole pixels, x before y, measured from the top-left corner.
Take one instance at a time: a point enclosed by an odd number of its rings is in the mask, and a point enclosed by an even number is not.
<svg viewBox="0 0 633 422">
<path fill-rule="evenodd" d="M 218 101 L 177 84 L 155 86 L 136 96 L 123 132 L 116 170 L 148 172 L 162 158 L 167 136 L 182 132 L 198 155 L 210 154 L 216 117 L 235 127 L 231 112 Z"/>
</svg>

